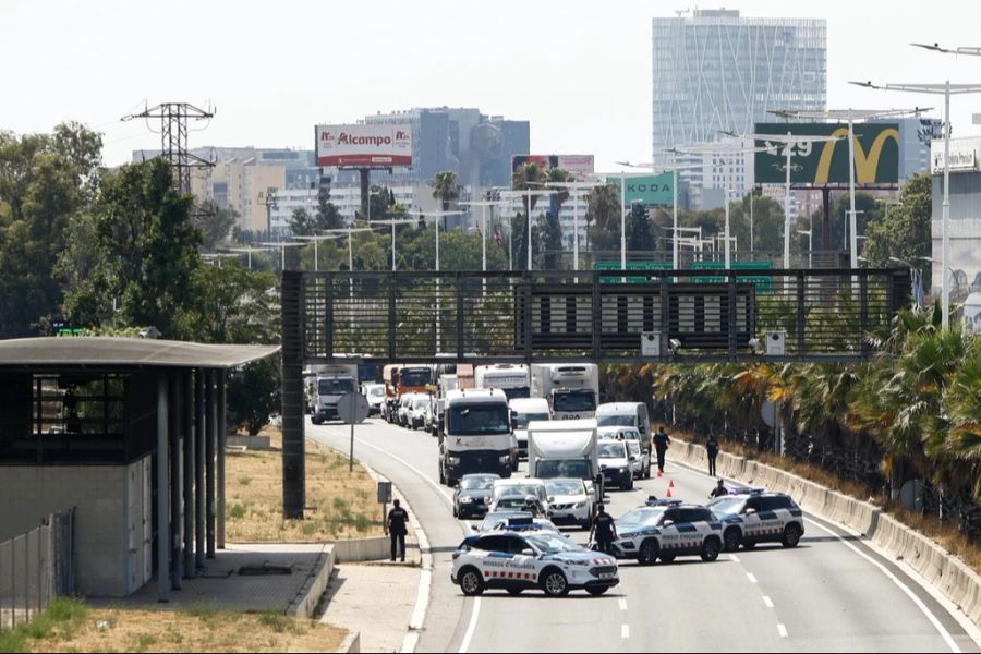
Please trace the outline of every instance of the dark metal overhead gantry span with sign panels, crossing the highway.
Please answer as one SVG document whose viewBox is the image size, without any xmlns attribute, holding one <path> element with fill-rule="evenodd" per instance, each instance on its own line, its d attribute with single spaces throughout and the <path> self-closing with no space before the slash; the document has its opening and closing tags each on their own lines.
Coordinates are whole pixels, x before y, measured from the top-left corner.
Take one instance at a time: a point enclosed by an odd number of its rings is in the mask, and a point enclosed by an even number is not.
<svg viewBox="0 0 981 654">
<path fill-rule="evenodd" d="M 295 320 L 304 363 L 758 361 L 772 331 L 785 353 L 767 360 L 857 361 L 911 301 L 898 268 L 287 277 L 283 334 Z M 656 358 L 641 354 L 651 331 Z"/>
</svg>

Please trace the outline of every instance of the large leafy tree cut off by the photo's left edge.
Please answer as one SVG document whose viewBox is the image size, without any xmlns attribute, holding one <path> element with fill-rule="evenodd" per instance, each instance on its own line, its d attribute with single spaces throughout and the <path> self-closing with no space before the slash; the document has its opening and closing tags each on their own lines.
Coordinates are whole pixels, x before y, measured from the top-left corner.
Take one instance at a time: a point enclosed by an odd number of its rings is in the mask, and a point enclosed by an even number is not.
<svg viewBox="0 0 981 654">
<path fill-rule="evenodd" d="M 0 132 L 0 338 L 37 335 L 59 313 L 56 263 L 71 221 L 98 191 L 101 145 L 77 123 L 52 134 Z"/>
</svg>

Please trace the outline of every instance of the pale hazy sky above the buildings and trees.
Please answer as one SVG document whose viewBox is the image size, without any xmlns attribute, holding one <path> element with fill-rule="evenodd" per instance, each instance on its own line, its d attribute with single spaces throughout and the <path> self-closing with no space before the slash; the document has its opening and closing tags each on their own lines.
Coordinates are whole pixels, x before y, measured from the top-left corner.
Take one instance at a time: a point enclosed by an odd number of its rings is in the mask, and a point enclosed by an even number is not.
<svg viewBox="0 0 981 654">
<path fill-rule="evenodd" d="M 977 0 L 724 3 L 743 16 L 827 20 L 828 108 L 936 107 L 877 83 L 981 83 Z M 702 9 L 720 4 L 703 3 Z M 0 130 L 77 120 L 109 165 L 159 147 L 144 102 L 217 108 L 191 145 L 313 147 L 313 125 L 416 106 L 479 107 L 531 121 L 538 154 L 594 154 L 597 170 L 651 158 L 651 19 L 679 1 L 0 0 Z M 954 135 L 981 134 L 981 95 L 954 98 Z M 158 124 L 153 125 L 157 128 Z"/>
</svg>

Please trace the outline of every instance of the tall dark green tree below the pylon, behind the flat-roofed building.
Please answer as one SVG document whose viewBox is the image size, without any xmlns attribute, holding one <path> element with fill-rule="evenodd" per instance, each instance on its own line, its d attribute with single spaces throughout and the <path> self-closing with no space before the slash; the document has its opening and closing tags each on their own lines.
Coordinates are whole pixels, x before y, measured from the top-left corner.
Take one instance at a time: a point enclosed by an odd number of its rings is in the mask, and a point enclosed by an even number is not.
<svg viewBox="0 0 981 654">
<path fill-rule="evenodd" d="M 118 324 L 154 325 L 167 338 L 184 338 L 204 240 L 191 221 L 192 204 L 191 195 L 173 190 L 170 164 L 162 158 L 108 174 L 92 217 L 106 265 L 100 279 L 69 289 L 65 314 L 97 325 L 118 299 Z M 94 307 L 99 307 L 95 314 Z"/>
</svg>

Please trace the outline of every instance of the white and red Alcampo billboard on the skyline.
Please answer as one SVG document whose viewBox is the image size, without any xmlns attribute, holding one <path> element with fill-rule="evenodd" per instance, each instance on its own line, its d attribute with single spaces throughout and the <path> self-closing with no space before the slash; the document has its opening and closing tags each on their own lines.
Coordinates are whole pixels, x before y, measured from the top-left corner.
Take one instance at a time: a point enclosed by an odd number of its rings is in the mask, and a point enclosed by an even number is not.
<svg viewBox="0 0 981 654">
<path fill-rule="evenodd" d="M 412 165 L 409 123 L 317 125 L 317 166 L 389 168 Z"/>
</svg>

